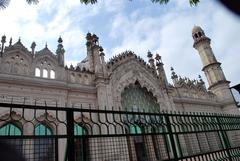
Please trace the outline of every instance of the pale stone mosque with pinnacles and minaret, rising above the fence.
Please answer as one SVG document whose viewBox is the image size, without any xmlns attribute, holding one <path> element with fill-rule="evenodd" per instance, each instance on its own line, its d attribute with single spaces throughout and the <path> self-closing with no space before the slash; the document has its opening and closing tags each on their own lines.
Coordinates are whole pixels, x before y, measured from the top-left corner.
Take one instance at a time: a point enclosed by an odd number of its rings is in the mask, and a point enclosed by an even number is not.
<svg viewBox="0 0 240 161">
<path fill-rule="evenodd" d="M 3 36 L 0 102 L 128 111 L 238 113 L 230 82 L 215 58 L 210 38 L 199 26 L 194 26 L 192 38 L 208 87 L 200 76 L 190 80 L 177 75 L 173 68 L 172 81 L 167 80 L 161 56 L 150 51 L 148 62 L 132 51 L 106 61 L 99 38 L 91 33 L 86 35 L 87 56 L 75 67 L 65 66 L 61 37 L 56 52 L 52 52 L 47 46 L 35 51 L 35 42 L 29 50 L 20 39 L 16 43 L 10 39 L 7 44 Z M 31 133 L 31 129 L 23 133 Z"/>
</svg>

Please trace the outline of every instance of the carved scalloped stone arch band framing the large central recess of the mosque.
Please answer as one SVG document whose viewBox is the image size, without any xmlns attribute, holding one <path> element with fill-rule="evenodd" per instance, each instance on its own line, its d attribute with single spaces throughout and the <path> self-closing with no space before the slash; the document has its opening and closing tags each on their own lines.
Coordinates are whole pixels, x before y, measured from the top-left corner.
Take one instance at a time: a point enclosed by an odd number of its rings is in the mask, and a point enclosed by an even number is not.
<svg viewBox="0 0 240 161">
<path fill-rule="evenodd" d="M 122 72 L 122 70 L 127 72 Z M 130 84 L 134 84 L 136 81 L 139 82 L 142 88 L 146 88 L 148 92 L 151 92 L 154 97 L 157 98 L 157 102 L 160 104 L 162 98 L 164 98 L 163 87 L 160 85 L 159 80 L 152 74 L 149 73 L 136 61 L 129 61 L 127 64 L 115 69 L 111 76 L 112 84 L 114 84 L 114 104 L 115 106 L 121 106 L 121 93 Z"/>
</svg>

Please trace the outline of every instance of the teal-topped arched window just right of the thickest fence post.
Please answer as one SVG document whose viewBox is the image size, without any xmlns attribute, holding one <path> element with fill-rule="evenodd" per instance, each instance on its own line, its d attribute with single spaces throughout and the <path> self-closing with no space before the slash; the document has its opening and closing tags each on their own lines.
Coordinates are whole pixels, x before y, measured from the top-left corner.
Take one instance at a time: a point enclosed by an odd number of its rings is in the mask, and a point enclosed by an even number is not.
<svg viewBox="0 0 240 161">
<path fill-rule="evenodd" d="M 83 137 L 87 134 L 87 130 L 82 126 L 74 125 L 74 135 L 79 136 L 74 141 L 75 158 L 77 161 L 88 161 L 89 160 L 89 146 L 88 139 Z"/>
</svg>

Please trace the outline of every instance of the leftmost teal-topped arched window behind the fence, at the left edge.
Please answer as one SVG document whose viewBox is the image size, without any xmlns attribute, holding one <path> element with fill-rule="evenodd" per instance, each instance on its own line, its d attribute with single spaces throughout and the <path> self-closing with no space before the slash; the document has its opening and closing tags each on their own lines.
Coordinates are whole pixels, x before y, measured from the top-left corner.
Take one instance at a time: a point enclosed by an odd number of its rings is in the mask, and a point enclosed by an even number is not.
<svg viewBox="0 0 240 161">
<path fill-rule="evenodd" d="M 5 124 L 0 128 L 0 136 L 19 136 L 22 135 L 22 131 L 16 125 L 12 123 Z M 12 145 L 18 152 L 22 153 L 22 139 L 4 139 L 4 142 Z"/>
</svg>

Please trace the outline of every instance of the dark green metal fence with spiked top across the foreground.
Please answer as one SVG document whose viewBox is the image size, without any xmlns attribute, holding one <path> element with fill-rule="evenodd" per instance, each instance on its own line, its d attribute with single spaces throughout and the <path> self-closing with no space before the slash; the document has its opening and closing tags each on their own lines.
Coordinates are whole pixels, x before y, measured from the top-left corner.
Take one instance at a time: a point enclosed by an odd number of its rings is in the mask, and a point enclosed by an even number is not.
<svg viewBox="0 0 240 161">
<path fill-rule="evenodd" d="M 234 161 L 240 117 L 0 103 L 0 140 L 28 161 Z"/>
</svg>

